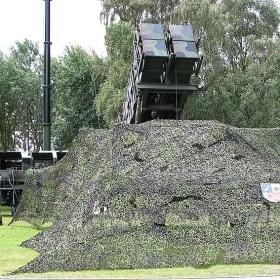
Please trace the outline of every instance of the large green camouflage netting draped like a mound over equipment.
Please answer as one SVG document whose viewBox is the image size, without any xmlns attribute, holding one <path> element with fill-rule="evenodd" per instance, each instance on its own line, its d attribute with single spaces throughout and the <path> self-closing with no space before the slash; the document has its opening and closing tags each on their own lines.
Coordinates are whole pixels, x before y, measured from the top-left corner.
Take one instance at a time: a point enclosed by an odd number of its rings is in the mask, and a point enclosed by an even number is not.
<svg viewBox="0 0 280 280">
<path fill-rule="evenodd" d="M 21 272 L 278 263 L 280 129 L 151 121 L 82 130 L 28 176 L 16 219 L 53 225 Z"/>
</svg>

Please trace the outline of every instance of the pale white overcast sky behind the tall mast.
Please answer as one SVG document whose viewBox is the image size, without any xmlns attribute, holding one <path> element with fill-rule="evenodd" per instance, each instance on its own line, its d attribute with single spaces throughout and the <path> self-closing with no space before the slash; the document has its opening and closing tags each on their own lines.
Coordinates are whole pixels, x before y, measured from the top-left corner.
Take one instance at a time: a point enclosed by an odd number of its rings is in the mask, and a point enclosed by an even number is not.
<svg viewBox="0 0 280 280">
<path fill-rule="evenodd" d="M 280 0 L 277 0 L 280 5 Z M 43 48 L 43 0 L 0 0 L 0 50 L 7 53 L 16 41 L 25 38 Z M 52 55 L 67 45 L 80 45 L 105 56 L 105 28 L 100 23 L 98 0 L 52 0 Z"/>
</svg>

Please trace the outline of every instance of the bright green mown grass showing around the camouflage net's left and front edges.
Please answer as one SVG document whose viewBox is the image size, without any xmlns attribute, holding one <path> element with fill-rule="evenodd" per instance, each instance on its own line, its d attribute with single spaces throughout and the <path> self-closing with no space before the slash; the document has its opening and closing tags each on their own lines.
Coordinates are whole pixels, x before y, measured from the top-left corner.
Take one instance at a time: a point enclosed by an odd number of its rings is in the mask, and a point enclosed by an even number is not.
<svg viewBox="0 0 280 280">
<path fill-rule="evenodd" d="M 11 217 L 8 208 L 2 208 L 4 226 L 0 226 L 0 277 L 11 273 L 31 261 L 37 253 L 19 247 L 22 241 L 39 233 L 25 222 L 16 222 L 7 226 Z M 101 270 L 77 272 L 48 272 L 42 274 L 22 274 L 17 278 L 152 278 L 152 277 L 220 277 L 220 276 L 256 276 L 280 275 L 280 265 L 216 265 L 207 268 L 169 268 L 137 270 Z"/>
</svg>

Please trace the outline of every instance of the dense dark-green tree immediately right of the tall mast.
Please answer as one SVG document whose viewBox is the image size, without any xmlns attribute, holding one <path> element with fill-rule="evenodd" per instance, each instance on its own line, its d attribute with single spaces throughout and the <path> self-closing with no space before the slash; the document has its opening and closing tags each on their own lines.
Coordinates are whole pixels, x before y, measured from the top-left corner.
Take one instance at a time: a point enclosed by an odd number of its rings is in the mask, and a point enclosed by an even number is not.
<svg viewBox="0 0 280 280">
<path fill-rule="evenodd" d="M 53 61 L 54 144 L 66 149 L 81 127 L 100 127 L 93 102 L 105 78 L 105 65 L 94 53 L 80 47 L 66 48 Z"/>
</svg>

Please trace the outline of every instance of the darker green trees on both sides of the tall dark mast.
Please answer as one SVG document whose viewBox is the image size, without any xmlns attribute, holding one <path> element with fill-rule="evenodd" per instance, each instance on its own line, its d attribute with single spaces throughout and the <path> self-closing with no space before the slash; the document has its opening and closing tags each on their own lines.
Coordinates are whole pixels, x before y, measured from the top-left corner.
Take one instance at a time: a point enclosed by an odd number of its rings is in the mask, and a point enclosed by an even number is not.
<svg viewBox="0 0 280 280">
<path fill-rule="evenodd" d="M 53 144 L 66 149 L 78 130 L 101 127 L 93 102 L 106 65 L 94 53 L 67 48 L 53 59 Z M 0 55 L 0 149 L 39 150 L 42 145 L 42 57 L 38 45 L 16 42 L 11 54 Z"/>
</svg>

